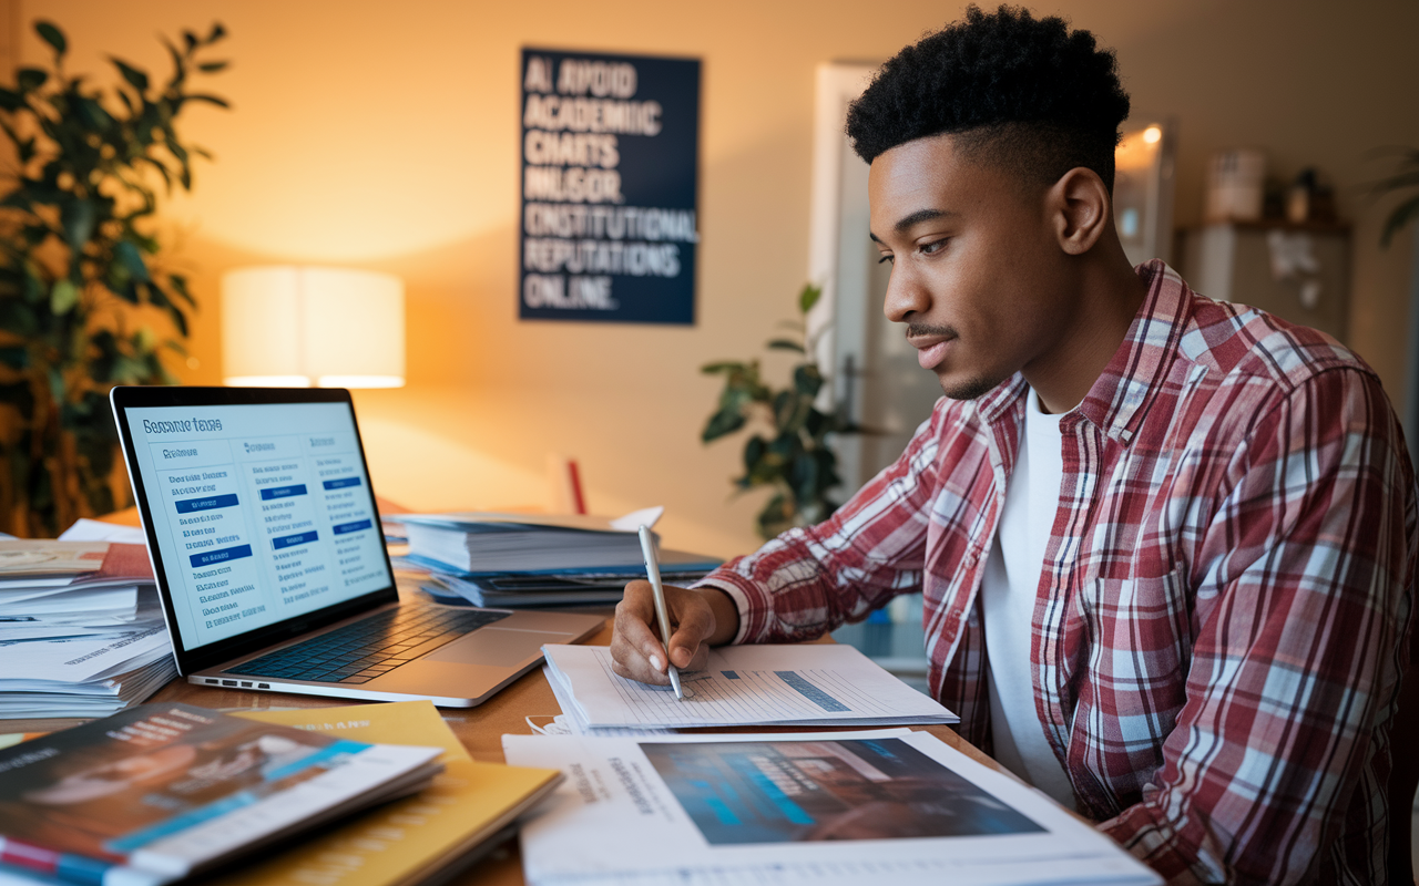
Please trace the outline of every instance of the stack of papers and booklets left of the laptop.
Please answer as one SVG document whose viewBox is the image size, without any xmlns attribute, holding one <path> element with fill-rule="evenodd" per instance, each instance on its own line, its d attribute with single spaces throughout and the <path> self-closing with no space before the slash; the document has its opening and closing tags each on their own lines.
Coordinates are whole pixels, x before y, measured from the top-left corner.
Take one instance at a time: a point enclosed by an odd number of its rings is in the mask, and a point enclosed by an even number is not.
<svg viewBox="0 0 1419 886">
<path fill-rule="evenodd" d="M 0 542 L 0 719 L 102 717 L 175 676 L 145 546 Z"/>
</svg>

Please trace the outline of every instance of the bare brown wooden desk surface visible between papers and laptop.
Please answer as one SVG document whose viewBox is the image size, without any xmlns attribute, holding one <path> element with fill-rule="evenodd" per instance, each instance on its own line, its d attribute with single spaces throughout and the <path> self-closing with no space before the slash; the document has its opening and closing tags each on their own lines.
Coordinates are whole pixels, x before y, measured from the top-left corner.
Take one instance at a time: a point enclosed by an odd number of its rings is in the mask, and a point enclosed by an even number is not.
<svg viewBox="0 0 1419 886">
<path fill-rule="evenodd" d="M 612 641 L 610 621 L 587 644 L 609 645 Z M 263 707 L 329 707 L 335 705 L 358 705 L 359 702 L 342 699 L 321 699 L 305 695 L 285 695 L 274 692 L 245 692 L 240 689 L 219 689 L 214 686 L 197 686 L 189 683 L 186 678 L 179 678 L 158 690 L 150 702 L 183 702 L 201 707 L 216 709 L 263 709 Z M 528 716 L 551 716 L 562 713 L 548 686 L 542 669 L 535 668 L 524 675 L 502 692 L 497 693 L 478 707 L 444 709 L 444 720 L 453 729 L 458 740 L 468 748 L 474 760 L 488 763 L 502 763 L 502 736 L 531 734 Z M 0 720 L 0 731 L 47 731 L 60 729 L 75 722 L 55 720 Z M 850 729 L 850 727 L 843 727 Z M 918 726 L 937 736 L 961 753 L 1000 770 L 999 764 L 982 754 L 973 746 L 964 741 L 955 731 L 945 726 Z M 734 730 L 694 730 L 694 731 L 773 731 L 793 733 L 805 731 L 788 727 L 745 727 Z M 830 731 L 815 729 L 813 731 Z M 465 875 L 454 879 L 450 886 L 517 886 L 522 883 L 522 862 L 517 843 L 494 852 L 490 858 L 478 862 Z"/>
</svg>

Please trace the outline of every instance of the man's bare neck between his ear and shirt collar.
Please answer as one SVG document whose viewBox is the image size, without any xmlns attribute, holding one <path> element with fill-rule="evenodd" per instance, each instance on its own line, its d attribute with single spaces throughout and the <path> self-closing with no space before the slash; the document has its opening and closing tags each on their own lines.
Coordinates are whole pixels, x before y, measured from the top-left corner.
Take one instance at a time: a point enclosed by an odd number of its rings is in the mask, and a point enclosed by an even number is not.
<svg viewBox="0 0 1419 886">
<path fill-rule="evenodd" d="M 1050 414 L 1078 405 L 1118 352 L 1148 288 L 1130 267 L 1122 247 L 1090 257 L 1077 269 L 1080 310 L 1060 346 L 1025 367 L 1025 378 Z"/>
</svg>

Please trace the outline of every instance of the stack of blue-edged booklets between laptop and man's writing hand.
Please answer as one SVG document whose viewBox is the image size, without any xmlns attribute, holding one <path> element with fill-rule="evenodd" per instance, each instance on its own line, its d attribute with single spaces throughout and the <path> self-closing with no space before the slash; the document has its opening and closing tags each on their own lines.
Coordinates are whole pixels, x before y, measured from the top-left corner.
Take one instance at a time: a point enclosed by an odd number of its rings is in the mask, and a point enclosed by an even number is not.
<svg viewBox="0 0 1419 886">
<path fill-rule="evenodd" d="M 637 527 L 660 509 L 616 520 L 509 513 L 399 515 L 409 537 L 402 564 L 429 574 L 440 602 L 481 607 L 606 605 L 627 581 L 646 577 Z M 718 566 L 712 557 L 661 551 L 667 584 L 688 584 Z"/>
</svg>

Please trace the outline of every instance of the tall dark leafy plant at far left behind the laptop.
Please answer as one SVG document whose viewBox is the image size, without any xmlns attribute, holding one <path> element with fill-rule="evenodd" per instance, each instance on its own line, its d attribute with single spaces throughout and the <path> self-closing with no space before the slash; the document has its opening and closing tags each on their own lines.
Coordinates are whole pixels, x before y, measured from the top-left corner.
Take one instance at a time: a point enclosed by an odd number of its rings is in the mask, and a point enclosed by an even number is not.
<svg viewBox="0 0 1419 886">
<path fill-rule="evenodd" d="M 0 176 L 0 527 L 53 536 L 74 519 L 114 510 L 118 438 L 106 397 L 115 384 L 170 384 L 160 353 L 184 354 L 187 281 L 159 261 L 152 232 L 159 189 L 192 189 L 177 118 L 224 31 L 165 40 L 172 74 L 112 58 L 121 82 L 105 89 L 64 67 L 68 41 L 54 24 L 35 33 L 53 65 L 16 71 L 0 88 L 0 130 L 14 167 Z M 159 326 L 155 326 L 155 320 Z M 160 326 L 170 329 L 159 330 Z"/>
</svg>

